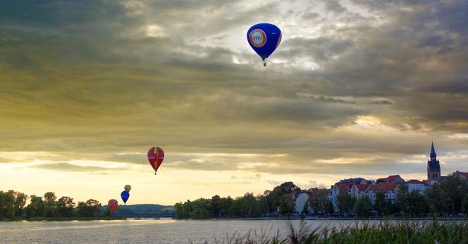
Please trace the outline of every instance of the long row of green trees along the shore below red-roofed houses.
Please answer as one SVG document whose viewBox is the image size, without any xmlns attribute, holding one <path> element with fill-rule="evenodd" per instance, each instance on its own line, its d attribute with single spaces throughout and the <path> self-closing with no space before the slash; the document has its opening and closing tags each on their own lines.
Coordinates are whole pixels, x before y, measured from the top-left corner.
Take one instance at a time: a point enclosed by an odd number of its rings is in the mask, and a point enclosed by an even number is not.
<svg viewBox="0 0 468 244">
<path fill-rule="evenodd" d="M 295 214 L 295 200 L 291 193 L 299 191 L 293 182 L 285 182 L 273 190 L 263 194 L 245 193 L 241 197 L 232 198 L 214 195 L 211 199 L 199 198 L 187 200 L 174 205 L 177 219 L 209 219 L 258 217 L 271 215 Z M 328 190 L 315 189 L 297 214 L 313 214 L 319 216 L 455 216 L 468 214 L 468 181 L 456 174 L 448 176 L 443 181 L 435 183 L 424 193 L 409 191 L 402 184 L 397 190 L 397 199 L 391 201 L 383 191 L 375 193 L 374 203 L 367 195 L 356 199 L 349 193 L 340 191 L 336 197 L 335 206 L 328 199 Z"/>
</svg>

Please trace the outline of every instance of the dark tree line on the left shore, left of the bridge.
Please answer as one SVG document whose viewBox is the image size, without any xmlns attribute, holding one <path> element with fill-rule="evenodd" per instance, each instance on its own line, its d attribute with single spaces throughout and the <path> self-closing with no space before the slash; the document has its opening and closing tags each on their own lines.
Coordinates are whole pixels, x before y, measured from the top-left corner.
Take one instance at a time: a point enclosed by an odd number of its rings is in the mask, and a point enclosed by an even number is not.
<svg viewBox="0 0 468 244">
<path fill-rule="evenodd" d="M 27 199 L 30 204 L 26 205 Z M 48 192 L 44 197 L 27 196 L 25 193 L 8 190 L 0 191 L 0 220 L 30 219 L 34 217 L 92 217 L 100 213 L 101 203 L 97 200 L 73 202 L 71 197 L 60 197 Z"/>
</svg>

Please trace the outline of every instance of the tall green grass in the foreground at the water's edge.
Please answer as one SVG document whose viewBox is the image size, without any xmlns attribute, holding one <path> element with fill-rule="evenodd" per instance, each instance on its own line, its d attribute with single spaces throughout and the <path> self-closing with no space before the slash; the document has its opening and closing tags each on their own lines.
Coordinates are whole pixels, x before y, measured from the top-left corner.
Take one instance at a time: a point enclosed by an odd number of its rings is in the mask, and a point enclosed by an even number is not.
<svg viewBox="0 0 468 244">
<path fill-rule="evenodd" d="M 208 243 L 208 242 L 206 242 Z M 468 243 L 466 221 L 381 221 L 356 222 L 347 226 L 311 230 L 305 221 L 295 228 L 289 223 L 287 236 L 266 236 L 265 232 L 235 233 L 214 243 L 223 244 L 312 244 L 312 243 Z"/>
</svg>

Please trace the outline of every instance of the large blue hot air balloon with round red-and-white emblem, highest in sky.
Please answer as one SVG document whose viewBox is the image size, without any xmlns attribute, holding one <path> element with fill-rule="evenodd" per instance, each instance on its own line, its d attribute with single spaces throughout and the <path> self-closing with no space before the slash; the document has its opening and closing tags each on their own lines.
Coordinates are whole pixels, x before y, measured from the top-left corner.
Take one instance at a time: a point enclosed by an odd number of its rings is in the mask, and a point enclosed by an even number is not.
<svg viewBox="0 0 468 244">
<path fill-rule="evenodd" d="M 276 25 L 260 23 L 247 31 L 250 47 L 265 61 L 281 42 L 281 30 Z M 265 66 L 265 63 L 264 63 Z"/>
</svg>

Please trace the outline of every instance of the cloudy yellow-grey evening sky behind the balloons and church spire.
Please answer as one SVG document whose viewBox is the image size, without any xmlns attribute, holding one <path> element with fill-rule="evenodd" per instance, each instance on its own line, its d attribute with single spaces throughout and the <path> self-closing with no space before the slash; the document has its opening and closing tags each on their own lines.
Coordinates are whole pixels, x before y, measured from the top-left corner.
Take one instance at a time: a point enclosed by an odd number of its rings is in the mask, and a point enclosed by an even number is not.
<svg viewBox="0 0 468 244">
<path fill-rule="evenodd" d="M 0 190 L 173 205 L 468 171 L 468 1 L 3 1 Z M 283 39 L 262 66 L 256 23 Z M 163 148 L 154 176 L 146 153 Z"/>
</svg>

